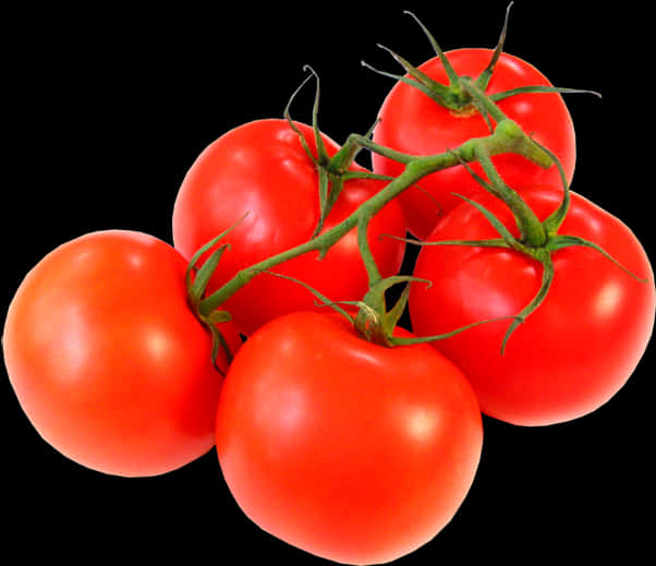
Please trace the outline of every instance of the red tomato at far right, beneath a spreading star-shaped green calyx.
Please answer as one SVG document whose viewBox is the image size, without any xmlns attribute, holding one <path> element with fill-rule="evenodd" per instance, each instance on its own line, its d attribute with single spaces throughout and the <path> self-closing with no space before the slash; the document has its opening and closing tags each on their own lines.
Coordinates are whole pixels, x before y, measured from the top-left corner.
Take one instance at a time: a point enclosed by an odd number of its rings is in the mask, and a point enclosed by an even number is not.
<svg viewBox="0 0 656 566">
<path fill-rule="evenodd" d="M 561 191 L 518 191 L 540 219 Z M 508 208 L 491 196 L 478 200 L 515 233 Z M 509 322 L 488 323 L 434 342 L 466 374 L 484 413 L 520 425 L 569 421 L 594 411 L 627 382 L 654 326 L 654 275 L 644 249 L 619 219 L 572 193 L 559 230 L 591 240 L 646 282 L 628 275 L 597 251 L 573 246 L 554 252 L 555 277 L 544 302 L 511 335 Z M 454 208 L 429 241 L 497 236 L 467 203 Z M 435 245 L 421 250 L 410 317 L 418 335 L 439 334 L 475 321 L 518 314 L 540 286 L 542 266 L 514 251 Z"/>
</svg>

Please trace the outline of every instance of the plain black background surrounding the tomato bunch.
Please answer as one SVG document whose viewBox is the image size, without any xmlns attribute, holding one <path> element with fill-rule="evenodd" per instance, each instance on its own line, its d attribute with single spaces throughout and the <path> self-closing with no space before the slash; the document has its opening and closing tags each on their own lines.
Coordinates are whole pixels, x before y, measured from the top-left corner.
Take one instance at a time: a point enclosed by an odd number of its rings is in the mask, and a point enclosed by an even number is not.
<svg viewBox="0 0 656 566">
<path fill-rule="evenodd" d="M 242 4 L 5 14 L 3 312 L 26 272 L 69 239 L 124 228 L 170 241 L 175 193 L 197 154 L 240 123 L 281 117 L 304 64 L 321 77 L 321 129 L 343 142 L 369 128 L 391 86 L 361 60 L 399 71 L 377 43 L 417 64 L 433 55 L 404 9 L 445 49 L 491 47 L 507 2 Z M 514 3 L 506 49 L 557 85 L 604 95 L 567 96 L 578 134 L 573 189 L 622 218 L 654 258 L 648 146 L 636 140 L 654 108 L 637 73 L 644 14 L 614 3 L 539 4 Z M 302 121 L 307 93 L 293 110 Z M 653 368 L 652 348 L 609 404 L 574 422 L 527 429 L 485 418 L 469 497 L 434 541 L 398 564 L 590 562 L 616 551 L 632 563 L 652 534 Z M 252 523 L 214 450 L 158 478 L 94 472 L 41 441 L 1 381 L 5 551 L 89 563 L 174 553 L 231 563 L 238 553 L 246 563 L 328 564 Z"/>
</svg>

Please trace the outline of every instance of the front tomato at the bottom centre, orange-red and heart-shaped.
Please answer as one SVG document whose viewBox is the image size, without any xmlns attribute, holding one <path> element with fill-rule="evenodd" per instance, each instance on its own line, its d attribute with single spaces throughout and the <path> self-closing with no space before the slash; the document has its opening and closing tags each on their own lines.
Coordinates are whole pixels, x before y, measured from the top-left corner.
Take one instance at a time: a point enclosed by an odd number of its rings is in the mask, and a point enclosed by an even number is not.
<svg viewBox="0 0 656 566">
<path fill-rule="evenodd" d="M 345 564 L 389 562 L 434 538 L 463 502 L 482 442 L 460 370 L 426 345 L 367 342 L 337 314 L 263 326 L 217 413 L 221 470 L 244 513 Z"/>
</svg>

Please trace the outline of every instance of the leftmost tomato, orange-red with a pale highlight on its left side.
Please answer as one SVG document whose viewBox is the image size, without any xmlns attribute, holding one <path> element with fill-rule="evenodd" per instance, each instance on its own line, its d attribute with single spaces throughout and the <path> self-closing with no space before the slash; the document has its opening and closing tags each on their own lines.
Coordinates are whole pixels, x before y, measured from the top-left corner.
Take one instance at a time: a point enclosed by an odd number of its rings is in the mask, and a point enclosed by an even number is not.
<svg viewBox="0 0 656 566">
<path fill-rule="evenodd" d="M 214 446 L 222 377 L 186 305 L 185 267 L 161 240 L 108 230 L 60 245 L 22 281 L 4 361 L 25 414 L 64 456 L 144 477 Z M 236 350 L 236 328 L 221 329 Z M 224 357 L 219 364 L 227 369 Z"/>
</svg>

